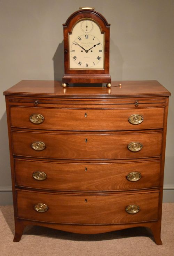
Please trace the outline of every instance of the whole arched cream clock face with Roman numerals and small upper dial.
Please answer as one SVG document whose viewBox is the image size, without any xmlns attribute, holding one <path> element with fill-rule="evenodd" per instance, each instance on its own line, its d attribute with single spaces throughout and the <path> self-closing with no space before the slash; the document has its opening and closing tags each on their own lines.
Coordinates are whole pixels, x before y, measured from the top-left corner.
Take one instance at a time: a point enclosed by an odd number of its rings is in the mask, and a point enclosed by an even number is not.
<svg viewBox="0 0 174 256">
<path fill-rule="evenodd" d="M 79 21 L 69 34 L 70 69 L 104 68 L 104 34 L 93 20 Z"/>
</svg>

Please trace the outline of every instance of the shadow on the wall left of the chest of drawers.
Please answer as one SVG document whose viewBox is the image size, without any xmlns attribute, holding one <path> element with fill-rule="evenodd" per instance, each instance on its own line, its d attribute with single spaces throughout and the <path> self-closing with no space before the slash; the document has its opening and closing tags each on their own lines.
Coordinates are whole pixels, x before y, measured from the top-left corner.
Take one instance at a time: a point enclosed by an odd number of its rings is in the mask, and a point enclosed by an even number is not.
<svg viewBox="0 0 174 256">
<path fill-rule="evenodd" d="M 2 159 L 0 163 L 0 186 L 11 186 L 10 155 L 6 111 L 0 119 L 0 142 L 0 155 Z"/>
</svg>

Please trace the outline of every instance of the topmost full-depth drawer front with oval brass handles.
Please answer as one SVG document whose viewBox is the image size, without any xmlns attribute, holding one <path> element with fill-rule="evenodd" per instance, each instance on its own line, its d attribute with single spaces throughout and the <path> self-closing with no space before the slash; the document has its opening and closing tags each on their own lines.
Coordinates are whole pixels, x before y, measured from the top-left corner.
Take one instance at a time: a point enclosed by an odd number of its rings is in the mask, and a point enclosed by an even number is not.
<svg viewBox="0 0 174 256">
<path fill-rule="evenodd" d="M 32 116 L 33 114 L 40 116 Z M 132 117 L 135 122 L 131 124 L 128 119 L 132 115 L 140 116 Z M 11 126 L 45 130 L 156 129 L 163 127 L 163 115 L 163 107 L 139 109 L 10 108 Z M 140 118 L 140 123 L 137 118 Z"/>
</svg>

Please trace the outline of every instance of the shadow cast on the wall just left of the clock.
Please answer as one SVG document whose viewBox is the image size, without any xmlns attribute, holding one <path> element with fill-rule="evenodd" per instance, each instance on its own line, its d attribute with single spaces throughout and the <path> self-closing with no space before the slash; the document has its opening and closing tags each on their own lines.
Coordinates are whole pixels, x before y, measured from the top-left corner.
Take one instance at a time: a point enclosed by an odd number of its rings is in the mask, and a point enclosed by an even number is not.
<svg viewBox="0 0 174 256">
<path fill-rule="evenodd" d="M 54 80 L 61 81 L 64 75 L 64 44 L 63 41 L 58 45 L 53 56 Z"/>
</svg>

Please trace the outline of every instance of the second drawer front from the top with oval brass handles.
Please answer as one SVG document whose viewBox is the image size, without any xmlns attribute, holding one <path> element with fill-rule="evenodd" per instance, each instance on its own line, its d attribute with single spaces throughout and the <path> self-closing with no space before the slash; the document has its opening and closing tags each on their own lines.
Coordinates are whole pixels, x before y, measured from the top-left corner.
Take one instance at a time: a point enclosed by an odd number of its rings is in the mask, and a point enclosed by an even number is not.
<svg viewBox="0 0 174 256">
<path fill-rule="evenodd" d="M 13 154 L 21 156 L 58 159 L 115 159 L 161 155 L 162 132 L 72 135 L 13 131 L 12 134 Z M 41 142 L 40 146 L 37 142 Z M 141 143 L 141 150 L 130 151 L 128 145 L 132 142 Z M 31 145 L 35 144 L 43 150 L 34 150 Z M 42 147 L 43 145 L 45 146 Z"/>
</svg>

